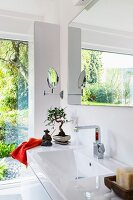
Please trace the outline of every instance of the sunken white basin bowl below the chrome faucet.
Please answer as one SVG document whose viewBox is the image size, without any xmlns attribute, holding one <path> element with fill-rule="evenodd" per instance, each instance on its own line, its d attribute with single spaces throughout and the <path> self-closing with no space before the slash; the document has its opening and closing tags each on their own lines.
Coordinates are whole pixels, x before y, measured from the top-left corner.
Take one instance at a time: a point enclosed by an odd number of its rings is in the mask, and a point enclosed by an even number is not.
<svg viewBox="0 0 133 200">
<path fill-rule="evenodd" d="M 47 174 L 58 179 L 63 177 L 66 180 L 76 180 L 112 173 L 74 149 L 40 152 L 38 155 Z"/>
</svg>

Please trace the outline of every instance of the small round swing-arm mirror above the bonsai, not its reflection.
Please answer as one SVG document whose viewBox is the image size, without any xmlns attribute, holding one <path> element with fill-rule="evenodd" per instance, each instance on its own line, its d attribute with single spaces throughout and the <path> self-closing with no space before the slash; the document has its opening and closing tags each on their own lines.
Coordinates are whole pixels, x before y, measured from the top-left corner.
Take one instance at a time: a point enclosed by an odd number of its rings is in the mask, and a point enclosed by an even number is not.
<svg viewBox="0 0 133 200">
<path fill-rule="evenodd" d="M 48 86 L 54 89 L 57 86 L 58 81 L 59 81 L 59 76 L 56 70 L 53 67 L 50 67 L 48 70 L 48 78 L 47 78 Z"/>
</svg>

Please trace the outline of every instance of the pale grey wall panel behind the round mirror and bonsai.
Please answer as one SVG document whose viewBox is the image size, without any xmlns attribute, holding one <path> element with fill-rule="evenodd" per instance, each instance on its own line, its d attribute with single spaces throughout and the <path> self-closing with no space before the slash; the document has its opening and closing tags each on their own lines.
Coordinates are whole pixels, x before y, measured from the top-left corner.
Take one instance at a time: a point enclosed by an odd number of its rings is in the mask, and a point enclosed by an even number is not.
<svg viewBox="0 0 133 200">
<path fill-rule="evenodd" d="M 54 67 L 59 75 L 60 65 L 60 29 L 56 24 L 43 22 L 35 23 L 34 35 L 34 131 L 35 136 L 43 135 L 46 129 L 44 121 L 47 119 L 47 110 L 50 107 L 59 107 L 60 84 L 54 89 L 48 87 L 47 77 L 49 67 Z M 44 95 L 44 90 L 46 95 Z"/>
</svg>

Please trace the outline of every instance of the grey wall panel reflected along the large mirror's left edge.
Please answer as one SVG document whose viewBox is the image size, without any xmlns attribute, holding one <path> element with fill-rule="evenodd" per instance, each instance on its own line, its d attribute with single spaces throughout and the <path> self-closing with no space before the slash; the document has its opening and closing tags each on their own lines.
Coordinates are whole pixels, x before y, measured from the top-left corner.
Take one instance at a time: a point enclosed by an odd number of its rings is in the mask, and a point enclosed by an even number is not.
<svg viewBox="0 0 133 200">
<path fill-rule="evenodd" d="M 79 28 L 69 27 L 68 66 L 68 77 L 71 77 L 68 82 L 68 102 L 79 104 L 81 101 L 81 89 L 78 86 L 78 77 L 81 73 L 81 29 Z"/>
</svg>

